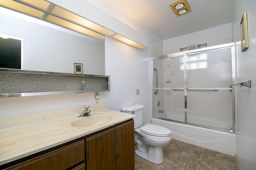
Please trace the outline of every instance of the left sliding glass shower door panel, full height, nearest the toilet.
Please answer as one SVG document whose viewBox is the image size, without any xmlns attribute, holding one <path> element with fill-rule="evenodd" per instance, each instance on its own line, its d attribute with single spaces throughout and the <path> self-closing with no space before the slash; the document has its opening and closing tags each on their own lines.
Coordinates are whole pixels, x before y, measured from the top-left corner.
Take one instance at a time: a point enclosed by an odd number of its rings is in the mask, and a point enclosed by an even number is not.
<svg viewBox="0 0 256 170">
<path fill-rule="evenodd" d="M 184 56 L 154 60 L 154 115 L 184 122 Z M 157 71 L 156 71 L 157 70 Z M 158 84 L 156 84 L 158 82 Z M 156 92 L 158 93 L 156 94 Z"/>
</svg>

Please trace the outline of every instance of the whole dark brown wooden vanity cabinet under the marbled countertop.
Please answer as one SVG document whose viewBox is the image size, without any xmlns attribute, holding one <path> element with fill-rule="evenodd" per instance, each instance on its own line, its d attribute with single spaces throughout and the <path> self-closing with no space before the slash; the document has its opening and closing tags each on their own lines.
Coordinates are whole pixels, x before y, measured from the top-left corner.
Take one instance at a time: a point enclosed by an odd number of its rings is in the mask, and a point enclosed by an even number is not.
<svg viewBox="0 0 256 170">
<path fill-rule="evenodd" d="M 86 144 L 85 144 L 86 141 Z M 0 166 L 4 170 L 134 170 L 134 121 Z"/>
</svg>

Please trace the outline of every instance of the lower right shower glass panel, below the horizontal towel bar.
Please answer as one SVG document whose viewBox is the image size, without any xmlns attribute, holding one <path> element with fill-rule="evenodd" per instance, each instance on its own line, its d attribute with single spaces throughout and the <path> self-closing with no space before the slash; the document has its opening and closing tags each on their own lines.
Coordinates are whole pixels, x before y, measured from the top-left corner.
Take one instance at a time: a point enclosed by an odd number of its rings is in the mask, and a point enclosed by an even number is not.
<svg viewBox="0 0 256 170">
<path fill-rule="evenodd" d="M 187 92 L 187 121 L 210 127 L 232 127 L 232 92 L 228 90 Z"/>
</svg>

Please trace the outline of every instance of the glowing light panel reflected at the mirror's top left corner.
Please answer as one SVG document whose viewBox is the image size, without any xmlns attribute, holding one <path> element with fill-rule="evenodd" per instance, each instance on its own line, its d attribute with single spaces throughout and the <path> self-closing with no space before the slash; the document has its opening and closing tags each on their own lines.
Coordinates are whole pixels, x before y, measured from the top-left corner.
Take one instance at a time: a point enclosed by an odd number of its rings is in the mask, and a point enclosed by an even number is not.
<svg viewBox="0 0 256 170">
<path fill-rule="evenodd" d="M 36 18 L 41 18 L 41 16 L 44 14 L 44 12 L 40 10 L 26 6 L 24 4 L 20 4 L 13 0 L 0 0 L 0 5 L 17 12 L 22 12 L 30 16 L 34 16 Z"/>
</svg>

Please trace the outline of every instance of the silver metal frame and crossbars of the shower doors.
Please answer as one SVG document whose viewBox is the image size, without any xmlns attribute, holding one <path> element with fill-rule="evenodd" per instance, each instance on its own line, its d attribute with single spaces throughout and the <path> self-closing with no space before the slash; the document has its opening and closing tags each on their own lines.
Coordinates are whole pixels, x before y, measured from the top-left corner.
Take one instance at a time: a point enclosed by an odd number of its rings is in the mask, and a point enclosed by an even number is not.
<svg viewBox="0 0 256 170">
<path fill-rule="evenodd" d="M 187 56 L 188 55 L 192 55 L 192 54 L 196 54 L 196 53 L 202 53 L 202 52 L 208 52 L 208 51 L 216 51 L 216 50 L 220 50 L 220 49 L 228 49 L 230 48 L 231 50 L 231 64 L 232 64 L 232 82 L 236 82 L 235 78 L 236 78 L 236 72 L 235 72 L 235 53 L 234 53 L 234 43 L 229 43 L 229 44 L 224 44 L 224 45 L 217 45 L 217 46 L 213 46 L 213 47 L 206 47 L 203 49 L 195 49 L 195 50 L 190 50 L 190 51 L 184 51 L 184 52 L 180 52 L 180 53 L 174 53 L 174 54 L 169 54 L 169 55 L 164 55 L 164 56 L 159 56 L 159 57 L 152 57 L 151 58 L 151 65 L 152 65 L 152 75 L 154 75 L 154 66 L 153 66 L 153 62 L 154 60 L 157 59 L 164 59 L 164 58 L 170 58 L 170 57 L 182 57 L 184 56 L 184 88 L 166 88 L 166 87 L 154 87 L 154 79 L 152 78 L 152 116 L 156 119 L 163 119 L 163 120 L 167 120 L 167 121 L 174 121 L 177 123 L 184 123 L 184 124 L 188 124 L 188 125 L 194 125 L 194 126 L 198 126 L 198 127 L 204 127 L 204 128 L 208 128 L 208 129 L 214 129 L 214 130 L 219 130 L 219 131 L 226 131 L 226 132 L 230 132 L 230 133 L 234 133 L 234 129 L 235 129 L 235 112 L 236 112 L 236 107 L 235 107 L 235 103 L 236 103 L 236 98 L 235 98 L 235 86 L 232 86 L 231 88 L 188 88 L 187 87 Z M 152 76 L 153 77 L 153 76 Z M 154 116 L 154 90 L 184 90 L 184 121 L 176 121 L 176 120 L 170 120 L 170 119 L 165 119 L 165 118 L 161 118 L 161 117 L 155 117 Z M 232 126 L 230 127 L 230 129 L 220 129 L 217 127 L 210 127 L 207 125 L 200 125 L 200 124 L 196 124 L 196 123 L 189 123 L 187 120 L 187 92 L 188 90 L 232 90 Z"/>
</svg>

